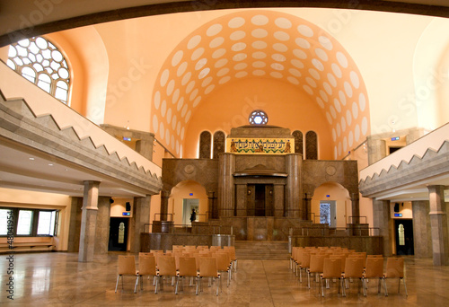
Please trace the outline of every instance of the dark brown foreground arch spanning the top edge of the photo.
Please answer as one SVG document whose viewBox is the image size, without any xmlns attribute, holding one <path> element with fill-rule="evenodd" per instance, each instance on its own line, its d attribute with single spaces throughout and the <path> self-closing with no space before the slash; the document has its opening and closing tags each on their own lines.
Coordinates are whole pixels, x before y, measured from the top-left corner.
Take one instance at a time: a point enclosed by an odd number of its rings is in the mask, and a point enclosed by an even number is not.
<svg viewBox="0 0 449 307">
<path fill-rule="evenodd" d="M 0 4 L 0 19 L 3 21 L 0 23 L 0 47 L 24 38 L 101 22 L 163 13 L 269 7 L 342 8 L 449 17 L 446 0 L 96 0 L 94 3 L 90 0 L 4 0 Z"/>
</svg>

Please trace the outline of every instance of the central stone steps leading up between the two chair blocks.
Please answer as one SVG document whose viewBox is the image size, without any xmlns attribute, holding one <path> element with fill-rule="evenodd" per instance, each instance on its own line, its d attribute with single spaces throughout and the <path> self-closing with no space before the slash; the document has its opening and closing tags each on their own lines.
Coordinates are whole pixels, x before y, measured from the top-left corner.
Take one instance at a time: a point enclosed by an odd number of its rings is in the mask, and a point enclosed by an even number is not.
<svg viewBox="0 0 449 307">
<path fill-rule="evenodd" d="M 288 241 L 235 241 L 237 259 L 287 260 Z"/>
</svg>

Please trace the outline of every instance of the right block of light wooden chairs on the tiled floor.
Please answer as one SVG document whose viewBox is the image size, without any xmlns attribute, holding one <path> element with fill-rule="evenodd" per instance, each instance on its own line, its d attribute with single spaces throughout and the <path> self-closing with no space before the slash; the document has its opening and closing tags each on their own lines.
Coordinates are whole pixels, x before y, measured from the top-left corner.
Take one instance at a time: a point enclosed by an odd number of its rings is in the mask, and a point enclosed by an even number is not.
<svg viewBox="0 0 449 307">
<path fill-rule="evenodd" d="M 367 283 L 369 279 L 378 279 L 378 293 L 380 293 L 381 282 L 384 285 L 384 294 L 388 295 L 386 279 L 398 278 L 398 293 L 400 292 L 401 280 L 404 284 L 405 294 L 407 286 L 404 279 L 404 263 L 402 258 L 388 258 L 386 270 L 383 271 L 382 255 L 366 255 L 365 252 L 356 252 L 344 248 L 300 248 L 294 247 L 290 268 L 294 270 L 302 282 L 302 272 L 307 273 L 307 287 L 310 289 L 310 277 L 320 276 L 321 294 L 324 296 L 323 281 L 329 287 L 331 279 L 339 279 L 339 292 L 346 296 L 345 289 L 348 289 L 348 280 L 358 279 L 358 293 L 360 286 L 363 294 L 366 295 Z"/>
</svg>

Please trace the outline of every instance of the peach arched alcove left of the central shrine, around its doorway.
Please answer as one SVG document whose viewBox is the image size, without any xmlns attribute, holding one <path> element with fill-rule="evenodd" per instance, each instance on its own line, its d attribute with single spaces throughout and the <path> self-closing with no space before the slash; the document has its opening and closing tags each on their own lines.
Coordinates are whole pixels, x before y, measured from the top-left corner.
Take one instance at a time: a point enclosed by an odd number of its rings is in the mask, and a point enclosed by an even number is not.
<svg viewBox="0 0 449 307">
<path fill-rule="evenodd" d="M 206 188 L 198 181 L 184 180 L 170 191 L 168 213 L 173 214 L 174 224 L 186 224 L 186 217 L 189 218 L 189 212 L 184 212 L 184 199 L 198 199 L 198 221 L 205 222 L 208 206 Z"/>
</svg>

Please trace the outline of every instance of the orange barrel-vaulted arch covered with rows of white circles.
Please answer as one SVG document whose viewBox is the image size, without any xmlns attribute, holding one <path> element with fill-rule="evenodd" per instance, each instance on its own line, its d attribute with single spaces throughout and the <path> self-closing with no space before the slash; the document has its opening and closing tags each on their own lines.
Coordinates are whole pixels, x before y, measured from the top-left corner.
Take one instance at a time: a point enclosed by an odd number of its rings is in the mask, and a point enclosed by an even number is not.
<svg viewBox="0 0 449 307">
<path fill-rule="evenodd" d="M 327 118 L 323 125 L 330 126 L 334 158 L 369 134 L 365 83 L 339 42 L 295 15 L 249 10 L 207 22 L 167 57 L 154 84 L 156 137 L 181 154 L 186 127 L 201 102 L 245 78 L 281 81 L 310 95 Z"/>
</svg>

